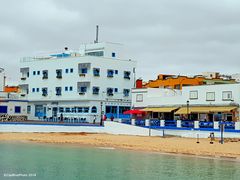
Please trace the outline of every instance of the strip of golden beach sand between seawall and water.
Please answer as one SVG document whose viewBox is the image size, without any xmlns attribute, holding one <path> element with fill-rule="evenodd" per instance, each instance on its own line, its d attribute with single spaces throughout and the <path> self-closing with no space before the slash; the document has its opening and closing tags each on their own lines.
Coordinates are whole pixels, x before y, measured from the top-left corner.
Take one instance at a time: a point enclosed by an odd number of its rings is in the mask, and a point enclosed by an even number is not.
<svg viewBox="0 0 240 180">
<path fill-rule="evenodd" d="M 86 133 L 0 133 L 0 141 L 79 144 L 127 150 L 197 155 L 240 160 L 240 139 L 225 139 L 224 144 L 210 139 L 180 137 L 142 137 Z"/>
</svg>

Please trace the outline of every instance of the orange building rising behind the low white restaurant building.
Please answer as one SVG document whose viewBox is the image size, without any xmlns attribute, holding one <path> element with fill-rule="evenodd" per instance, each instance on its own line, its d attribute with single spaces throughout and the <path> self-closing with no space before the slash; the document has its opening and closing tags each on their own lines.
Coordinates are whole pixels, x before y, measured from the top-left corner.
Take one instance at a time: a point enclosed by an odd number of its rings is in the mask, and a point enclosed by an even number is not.
<svg viewBox="0 0 240 180">
<path fill-rule="evenodd" d="M 236 83 L 235 80 L 224 80 L 221 78 L 206 78 L 204 76 L 176 76 L 176 75 L 165 75 L 159 74 L 156 80 L 150 80 L 143 87 L 149 88 L 172 88 L 182 89 L 183 86 L 196 86 L 203 84 L 229 84 Z"/>
</svg>

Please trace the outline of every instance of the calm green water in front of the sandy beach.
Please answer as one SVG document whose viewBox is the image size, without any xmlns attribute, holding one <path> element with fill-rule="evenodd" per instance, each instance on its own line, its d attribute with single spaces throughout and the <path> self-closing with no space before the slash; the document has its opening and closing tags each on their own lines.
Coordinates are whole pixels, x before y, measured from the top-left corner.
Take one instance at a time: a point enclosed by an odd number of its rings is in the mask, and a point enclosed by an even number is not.
<svg viewBox="0 0 240 180">
<path fill-rule="evenodd" d="M 32 177 L 4 174 L 32 173 Z M 240 179 L 240 163 L 121 150 L 0 143 L 2 179 Z"/>
</svg>

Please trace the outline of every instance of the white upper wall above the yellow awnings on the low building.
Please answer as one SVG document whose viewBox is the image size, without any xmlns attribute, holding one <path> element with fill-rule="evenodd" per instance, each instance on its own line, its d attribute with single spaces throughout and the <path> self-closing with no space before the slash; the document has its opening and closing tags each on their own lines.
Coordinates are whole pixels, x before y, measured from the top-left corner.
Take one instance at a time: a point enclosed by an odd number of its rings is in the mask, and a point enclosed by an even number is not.
<svg viewBox="0 0 240 180">
<path fill-rule="evenodd" d="M 190 91 L 197 91 L 198 98 L 190 99 Z M 223 91 L 231 91 L 232 99 L 223 100 Z M 207 101 L 207 92 L 215 93 L 214 101 Z M 142 102 L 137 102 L 136 98 L 139 94 L 143 95 Z M 190 105 L 240 104 L 240 84 L 188 86 L 183 87 L 181 92 L 161 88 L 132 89 L 132 105 L 134 107 L 186 105 L 187 101 L 189 101 Z"/>
</svg>

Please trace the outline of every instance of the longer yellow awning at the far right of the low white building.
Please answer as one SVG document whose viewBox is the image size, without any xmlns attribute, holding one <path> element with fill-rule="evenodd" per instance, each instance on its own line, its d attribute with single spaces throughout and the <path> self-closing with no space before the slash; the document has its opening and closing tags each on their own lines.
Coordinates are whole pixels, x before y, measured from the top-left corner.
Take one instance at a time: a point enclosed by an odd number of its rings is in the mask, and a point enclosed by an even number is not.
<svg viewBox="0 0 240 180">
<path fill-rule="evenodd" d="M 187 113 L 211 113 L 211 112 L 230 112 L 237 107 L 235 106 L 214 106 L 214 107 L 182 107 L 175 114 L 187 114 Z"/>
</svg>

